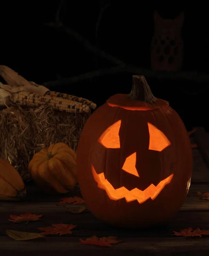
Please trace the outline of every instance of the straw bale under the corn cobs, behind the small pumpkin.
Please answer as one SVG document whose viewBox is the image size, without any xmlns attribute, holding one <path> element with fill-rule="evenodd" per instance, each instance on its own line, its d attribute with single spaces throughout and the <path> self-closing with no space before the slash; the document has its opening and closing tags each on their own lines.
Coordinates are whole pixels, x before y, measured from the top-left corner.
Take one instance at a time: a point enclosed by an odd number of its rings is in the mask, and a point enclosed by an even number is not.
<svg viewBox="0 0 209 256">
<path fill-rule="evenodd" d="M 77 151 L 78 140 L 89 113 L 67 113 L 42 105 L 12 105 L 0 111 L 0 158 L 17 169 L 23 180 L 31 179 L 28 164 L 35 152 L 63 142 Z"/>
</svg>

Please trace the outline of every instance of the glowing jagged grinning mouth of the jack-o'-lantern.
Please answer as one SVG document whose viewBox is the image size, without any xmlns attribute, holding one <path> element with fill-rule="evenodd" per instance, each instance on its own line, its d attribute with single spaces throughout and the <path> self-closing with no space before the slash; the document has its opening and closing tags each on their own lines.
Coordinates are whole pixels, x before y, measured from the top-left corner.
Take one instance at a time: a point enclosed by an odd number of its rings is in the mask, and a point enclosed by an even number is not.
<svg viewBox="0 0 209 256">
<path fill-rule="evenodd" d="M 149 198 L 154 200 L 157 195 L 159 195 L 159 193 L 163 190 L 163 188 L 171 182 L 173 177 L 173 174 L 171 174 L 165 180 L 161 180 L 157 186 L 151 184 L 144 191 L 137 188 L 129 191 L 124 186 L 120 187 L 119 189 L 114 189 L 110 182 L 105 179 L 104 172 L 97 174 L 93 165 L 91 167 L 94 180 L 98 183 L 98 187 L 104 189 L 110 199 L 119 200 L 125 198 L 127 202 L 137 200 L 139 204 L 142 204 Z"/>
</svg>

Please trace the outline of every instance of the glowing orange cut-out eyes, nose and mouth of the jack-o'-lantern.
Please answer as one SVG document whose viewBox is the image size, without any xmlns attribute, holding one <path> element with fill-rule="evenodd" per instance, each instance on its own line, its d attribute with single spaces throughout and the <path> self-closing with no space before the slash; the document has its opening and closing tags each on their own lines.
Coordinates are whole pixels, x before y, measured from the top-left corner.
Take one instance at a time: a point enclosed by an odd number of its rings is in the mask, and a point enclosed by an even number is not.
<svg viewBox="0 0 209 256">
<path fill-rule="evenodd" d="M 113 125 L 108 127 L 104 133 L 99 137 L 98 142 L 101 143 L 105 148 L 120 148 L 119 130 L 121 126 L 121 120 L 118 120 Z M 149 150 L 162 151 L 164 148 L 171 145 L 168 138 L 163 134 L 162 131 L 157 129 L 154 125 L 148 122 L 149 131 Z M 128 156 L 125 163 L 122 166 L 122 170 L 139 177 L 136 170 L 136 152 Z M 98 183 L 98 187 L 104 189 L 108 197 L 112 200 L 119 200 L 125 198 L 127 202 L 137 200 L 139 204 L 142 204 L 149 198 L 154 200 L 157 195 L 163 190 L 163 188 L 171 182 L 173 174 L 169 177 L 161 180 L 157 186 L 151 184 L 145 190 L 132 189 L 131 191 L 126 189 L 124 186 L 114 189 L 111 183 L 105 179 L 104 172 L 97 174 L 96 170 L 92 165 L 92 173 L 94 180 Z"/>
</svg>

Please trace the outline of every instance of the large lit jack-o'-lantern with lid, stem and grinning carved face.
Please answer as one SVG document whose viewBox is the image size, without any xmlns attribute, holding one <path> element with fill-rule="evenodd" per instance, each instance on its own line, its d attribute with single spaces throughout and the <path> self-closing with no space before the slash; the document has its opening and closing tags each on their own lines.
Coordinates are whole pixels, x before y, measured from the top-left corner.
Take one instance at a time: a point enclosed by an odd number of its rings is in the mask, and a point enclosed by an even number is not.
<svg viewBox="0 0 209 256">
<path fill-rule="evenodd" d="M 90 211 L 121 227 L 167 221 L 181 207 L 192 175 L 186 128 L 168 102 L 133 76 L 87 120 L 77 151 L 78 183 Z"/>
</svg>

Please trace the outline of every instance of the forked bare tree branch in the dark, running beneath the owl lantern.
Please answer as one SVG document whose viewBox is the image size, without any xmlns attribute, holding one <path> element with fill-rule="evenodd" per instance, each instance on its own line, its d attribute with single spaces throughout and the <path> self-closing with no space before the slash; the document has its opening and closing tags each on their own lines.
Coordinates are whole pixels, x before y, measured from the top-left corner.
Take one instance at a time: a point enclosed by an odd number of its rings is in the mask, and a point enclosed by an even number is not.
<svg viewBox="0 0 209 256">
<path fill-rule="evenodd" d="M 82 44 L 88 51 L 92 52 L 93 54 L 100 56 L 113 64 L 116 64 L 117 67 L 110 67 L 107 69 L 102 70 L 94 70 L 91 72 L 87 72 L 78 76 L 70 77 L 70 78 L 63 78 L 56 81 L 48 81 L 44 83 L 44 86 L 46 87 L 56 87 L 59 85 L 64 84 L 72 84 L 76 83 L 78 81 L 83 81 L 87 79 L 92 79 L 100 76 L 105 76 L 109 74 L 114 73 L 131 73 L 132 75 L 143 75 L 148 78 L 157 78 L 157 79 L 172 79 L 175 81 L 195 81 L 195 82 L 209 82 L 209 74 L 199 74 L 197 72 L 165 72 L 165 71 L 153 71 L 153 70 L 147 70 L 142 69 L 140 67 L 134 67 L 126 64 L 124 61 L 120 60 L 119 58 L 116 58 L 98 47 L 94 46 L 90 41 L 88 41 L 86 38 L 84 38 L 82 35 L 80 35 L 78 32 L 73 31 L 73 29 L 67 28 L 63 26 L 63 24 L 60 22 L 60 12 L 61 7 L 64 5 L 64 0 L 61 0 L 60 6 L 58 8 L 57 14 L 56 14 L 56 22 L 55 23 L 49 23 L 46 24 L 48 26 L 54 27 L 55 29 L 61 29 L 66 34 L 73 37 L 75 40 L 77 40 L 80 44 Z"/>
</svg>

